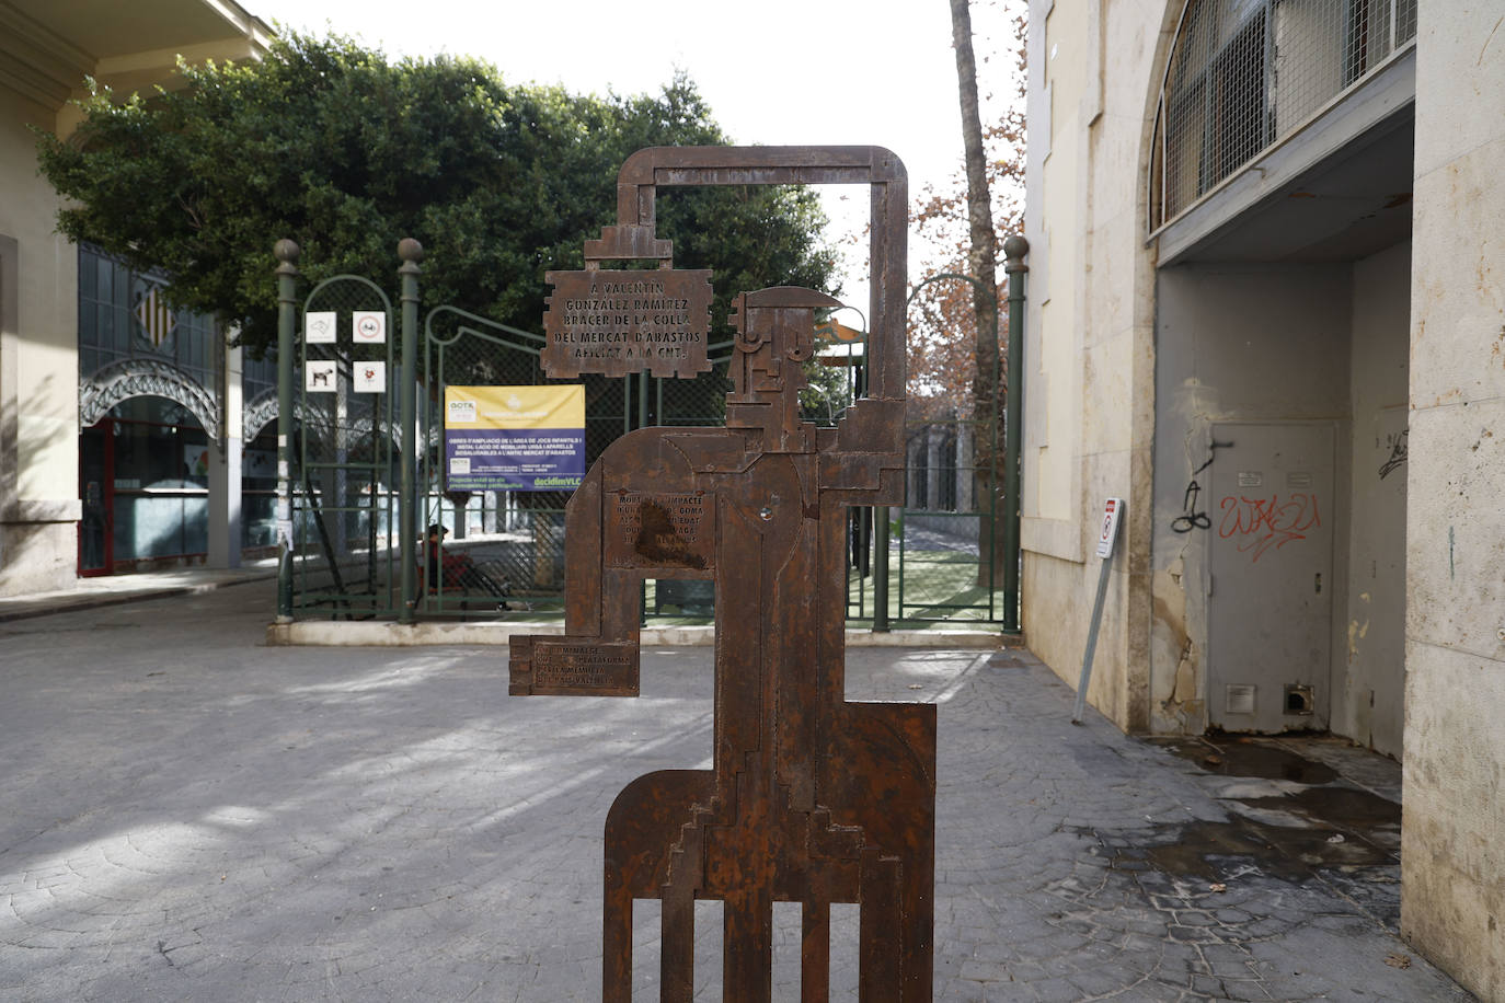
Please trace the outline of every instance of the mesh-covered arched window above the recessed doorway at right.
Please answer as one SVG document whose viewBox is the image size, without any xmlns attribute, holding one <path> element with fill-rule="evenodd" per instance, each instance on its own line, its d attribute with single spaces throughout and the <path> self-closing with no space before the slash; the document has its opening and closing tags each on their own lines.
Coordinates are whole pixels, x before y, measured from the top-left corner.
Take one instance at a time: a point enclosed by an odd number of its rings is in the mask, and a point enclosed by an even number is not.
<svg viewBox="0 0 1505 1003">
<path fill-rule="evenodd" d="M 1165 68 L 1151 229 L 1416 38 L 1418 0 L 1189 0 Z"/>
</svg>

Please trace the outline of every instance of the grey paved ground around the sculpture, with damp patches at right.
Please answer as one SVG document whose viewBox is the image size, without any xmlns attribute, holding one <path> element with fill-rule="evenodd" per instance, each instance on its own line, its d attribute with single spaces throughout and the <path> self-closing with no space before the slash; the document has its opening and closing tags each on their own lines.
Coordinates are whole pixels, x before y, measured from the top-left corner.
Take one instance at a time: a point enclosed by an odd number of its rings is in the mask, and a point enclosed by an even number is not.
<svg viewBox="0 0 1505 1003">
<path fill-rule="evenodd" d="M 260 647 L 271 608 L 0 624 L 0 998 L 599 998 L 602 821 L 709 764 L 710 653 L 519 699 L 500 650 Z M 1073 726 L 1023 653 L 852 651 L 847 689 L 939 705 L 938 998 L 1470 998 L 1394 934 L 1394 764 Z"/>
</svg>

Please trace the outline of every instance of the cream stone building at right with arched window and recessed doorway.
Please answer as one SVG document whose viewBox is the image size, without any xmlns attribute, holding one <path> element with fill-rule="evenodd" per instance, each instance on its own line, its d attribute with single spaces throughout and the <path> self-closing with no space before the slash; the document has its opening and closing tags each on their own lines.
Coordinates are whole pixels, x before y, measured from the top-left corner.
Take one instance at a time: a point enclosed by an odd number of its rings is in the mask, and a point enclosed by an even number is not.
<svg viewBox="0 0 1505 1003">
<path fill-rule="evenodd" d="M 1127 499 L 1091 704 L 1400 758 L 1403 934 L 1496 998 L 1499 11 L 1032 0 L 1028 44 L 1029 645 L 1076 680 Z"/>
</svg>

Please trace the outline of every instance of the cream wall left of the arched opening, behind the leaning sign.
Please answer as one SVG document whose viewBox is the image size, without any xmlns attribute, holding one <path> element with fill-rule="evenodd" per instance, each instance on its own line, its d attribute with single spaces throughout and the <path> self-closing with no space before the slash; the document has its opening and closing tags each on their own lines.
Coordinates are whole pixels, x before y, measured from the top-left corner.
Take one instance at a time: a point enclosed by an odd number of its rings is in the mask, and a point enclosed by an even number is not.
<svg viewBox="0 0 1505 1003">
<path fill-rule="evenodd" d="M 1090 701 L 1148 726 L 1154 268 L 1144 244 L 1145 95 L 1174 21 L 1160 0 L 1029 6 L 1022 544 L 1031 648 L 1076 681 L 1106 498 L 1127 501 Z"/>
</svg>

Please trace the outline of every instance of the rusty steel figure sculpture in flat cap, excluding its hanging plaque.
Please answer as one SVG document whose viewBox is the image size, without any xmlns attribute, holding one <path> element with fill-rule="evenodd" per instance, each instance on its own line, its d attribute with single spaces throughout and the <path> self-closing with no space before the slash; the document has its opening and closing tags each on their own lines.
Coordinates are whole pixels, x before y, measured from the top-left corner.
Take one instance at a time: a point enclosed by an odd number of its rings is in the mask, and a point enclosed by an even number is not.
<svg viewBox="0 0 1505 1003">
<path fill-rule="evenodd" d="M 566 516 L 566 636 L 513 638 L 512 692 L 635 696 L 638 582 L 713 579 L 713 767 L 638 777 L 608 814 L 604 998 L 631 998 L 632 901 L 656 898 L 665 1000 L 691 997 L 695 899 L 724 902 L 727 1000 L 771 995 L 775 901 L 802 905 L 805 1000 L 828 997 L 832 902 L 861 907 L 861 998 L 929 1000 L 935 707 L 844 699 L 844 507 L 903 493 L 903 165 L 876 147 L 641 150 L 596 257 L 667 262 L 655 185 L 760 182 L 871 185 L 871 395 L 835 429 L 802 423 L 801 362 L 837 301 L 737 296 L 727 427 L 641 429 L 602 454 Z"/>
</svg>

